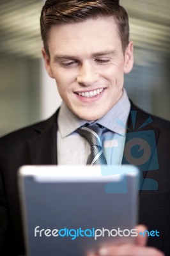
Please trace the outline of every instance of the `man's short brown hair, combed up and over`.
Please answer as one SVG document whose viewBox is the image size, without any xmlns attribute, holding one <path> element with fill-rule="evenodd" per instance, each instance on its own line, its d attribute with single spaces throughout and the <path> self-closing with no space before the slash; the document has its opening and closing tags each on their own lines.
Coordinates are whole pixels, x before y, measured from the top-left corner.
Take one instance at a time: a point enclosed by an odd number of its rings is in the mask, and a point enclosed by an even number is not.
<svg viewBox="0 0 170 256">
<path fill-rule="evenodd" d="M 40 17 L 41 35 L 45 51 L 49 55 L 50 28 L 58 24 L 82 22 L 89 18 L 114 16 L 121 38 L 123 52 L 128 45 L 129 24 L 125 9 L 119 0 L 47 0 Z"/>
</svg>

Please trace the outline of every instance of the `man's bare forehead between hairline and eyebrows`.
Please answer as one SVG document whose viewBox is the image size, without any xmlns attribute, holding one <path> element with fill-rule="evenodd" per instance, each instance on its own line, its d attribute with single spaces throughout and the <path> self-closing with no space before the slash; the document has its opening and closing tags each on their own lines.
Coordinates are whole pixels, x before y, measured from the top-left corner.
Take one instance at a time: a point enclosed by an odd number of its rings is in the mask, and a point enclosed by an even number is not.
<svg viewBox="0 0 170 256">
<path fill-rule="evenodd" d="M 48 46 L 50 54 L 82 54 L 104 51 L 108 48 L 114 50 L 119 46 L 121 49 L 121 40 L 114 17 L 99 17 L 84 22 L 52 26 Z"/>
</svg>

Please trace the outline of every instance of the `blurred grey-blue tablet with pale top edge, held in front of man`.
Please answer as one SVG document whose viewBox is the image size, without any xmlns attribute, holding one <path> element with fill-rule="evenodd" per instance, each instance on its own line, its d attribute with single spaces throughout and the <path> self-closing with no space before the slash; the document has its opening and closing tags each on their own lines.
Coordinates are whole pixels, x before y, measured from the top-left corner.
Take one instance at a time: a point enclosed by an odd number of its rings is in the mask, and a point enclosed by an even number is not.
<svg viewBox="0 0 170 256">
<path fill-rule="evenodd" d="M 19 191 L 27 255 L 85 256 L 134 243 L 134 166 L 22 166 Z"/>
</svg>

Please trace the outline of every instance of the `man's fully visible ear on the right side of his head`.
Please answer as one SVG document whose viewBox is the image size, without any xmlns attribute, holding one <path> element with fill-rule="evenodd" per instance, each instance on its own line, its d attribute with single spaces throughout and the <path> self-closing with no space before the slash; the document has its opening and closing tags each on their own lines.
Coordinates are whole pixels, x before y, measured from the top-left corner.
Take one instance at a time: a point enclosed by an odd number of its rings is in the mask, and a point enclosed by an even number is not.
<svg viewBox="0 0 170 256">
<path fill-rule="evenodd" d="M 129 42 L 125 50 L 124 73 L 128 74 L 132 70 L 133 65 L 134 65 L 134 45 L 132 42 Z"/>
</svg>

